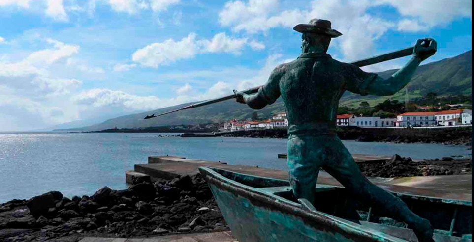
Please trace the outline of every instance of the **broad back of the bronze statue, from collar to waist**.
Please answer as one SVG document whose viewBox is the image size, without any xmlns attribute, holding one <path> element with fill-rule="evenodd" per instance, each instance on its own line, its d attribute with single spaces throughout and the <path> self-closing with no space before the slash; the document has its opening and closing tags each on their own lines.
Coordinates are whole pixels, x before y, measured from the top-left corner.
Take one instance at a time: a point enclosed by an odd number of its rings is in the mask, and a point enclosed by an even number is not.
<svg viewBox="0 0 474 242">
<path fill-rule="evenodd" d="M 341 64 L 326 55 L 299 58 L 285 65 L 280 91 L 290 133 L 315 125 L 335 127 L 339 99 L 345 90 Z"/>
</svg>

